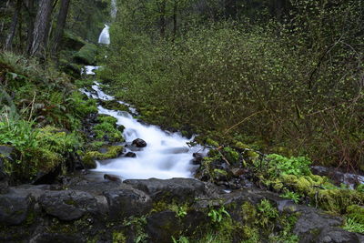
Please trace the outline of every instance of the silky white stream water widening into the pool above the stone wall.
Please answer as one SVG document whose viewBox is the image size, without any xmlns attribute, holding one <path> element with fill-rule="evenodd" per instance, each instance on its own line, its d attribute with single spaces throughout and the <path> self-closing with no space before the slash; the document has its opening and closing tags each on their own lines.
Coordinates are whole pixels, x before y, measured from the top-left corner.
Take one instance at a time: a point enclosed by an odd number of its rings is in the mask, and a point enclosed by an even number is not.
<svg viewBox="0 0 364 243">
<path fill-rule="evenodd" d="M 112 100 L 113 96 L 106 95 L 98 83 L 92 86 L 93 92 L 83 92 L 92 98 L 101 100 Z M 120 102 L 126 104 L 124 102 Z M 127 104 L 126 104 L 127 105 Z M 131 111 L 134 109 L 130 106 Z M 196 166 L 190 161 L 192 154 L 204 153 L 203 147 L 188 147 L 190 140 L 182 137 L 179 133 L 167 133 L 157 126 L 148 126 L 138 122 L 127 112 L 108 110 L 98 106 L 98 113 L 114 116 L 117 125 L 126 127 L 124 137 L 126 139 L 126 151 L 135 150 L 130 144 L 136 138 L 147 142 L 147 147 L 134 151 L 136 157 L 117 157 L 106 161 L 96 161 L 95 172 L 113 174 L 123 179 L 128 178 L 172 178 L 172 177 L 193 177 Z M 130 150 L 131 149 L 131 150 Z"/>
</svg>

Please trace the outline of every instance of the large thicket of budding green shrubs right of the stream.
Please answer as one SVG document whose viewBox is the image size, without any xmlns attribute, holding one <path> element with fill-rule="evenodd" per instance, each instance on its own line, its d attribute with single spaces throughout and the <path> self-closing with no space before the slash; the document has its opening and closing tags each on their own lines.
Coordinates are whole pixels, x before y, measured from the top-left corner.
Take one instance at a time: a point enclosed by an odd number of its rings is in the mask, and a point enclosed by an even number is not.
<svg viewBox="0 0 364 243">
<path fill-rule="evenodd" d="M 200 12 L 188 12 L 186 2 L 173 42 L 158 38 L 159 21 L 164 15 L 171 35 L 176 1 L 166 1 L 164 13 L 156 1 L 119 3 L 101 73 L 123 87 L 117 96 L 163 107 L 148 116 L 168 127 L 236 132 L 260 147 L 287 147 L 288 156 L 363 165 L 358 1 L 250 1 L 234 11 L 207 1 Z M 229 17 L 236 21 L 216 21 Z"/>
</svg>

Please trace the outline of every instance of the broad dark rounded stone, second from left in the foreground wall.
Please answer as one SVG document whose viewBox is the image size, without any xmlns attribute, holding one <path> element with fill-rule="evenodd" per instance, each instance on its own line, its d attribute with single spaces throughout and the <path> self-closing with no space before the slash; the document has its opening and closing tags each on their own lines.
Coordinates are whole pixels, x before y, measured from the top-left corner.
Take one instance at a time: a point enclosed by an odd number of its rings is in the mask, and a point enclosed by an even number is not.
<svg viewBox="0 0 364 243">
<path fill-rule="evenodd" d="M 46 191 L 39 202 L 47 214 L 65 221 L 81 218 L 86 212 L 97 211 L 95 197 L 75 190 Z"/>
</svg>

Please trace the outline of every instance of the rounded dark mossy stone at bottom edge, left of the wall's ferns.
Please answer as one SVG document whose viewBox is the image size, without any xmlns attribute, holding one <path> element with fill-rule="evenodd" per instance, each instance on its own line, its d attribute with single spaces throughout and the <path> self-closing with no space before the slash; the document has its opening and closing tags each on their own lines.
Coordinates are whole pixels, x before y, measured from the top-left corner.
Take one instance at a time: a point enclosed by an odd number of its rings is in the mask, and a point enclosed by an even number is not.
<svg viewBox="0 0 364 243">
<path fill-rule="evenodd" d="M 171 238 L 177 238 L 182 229 L 177 220 L 175 212 L 162 211 L 157 212 L 147 218 L 147 234 L 152 242 L 169 243 Z"/>
</svg>

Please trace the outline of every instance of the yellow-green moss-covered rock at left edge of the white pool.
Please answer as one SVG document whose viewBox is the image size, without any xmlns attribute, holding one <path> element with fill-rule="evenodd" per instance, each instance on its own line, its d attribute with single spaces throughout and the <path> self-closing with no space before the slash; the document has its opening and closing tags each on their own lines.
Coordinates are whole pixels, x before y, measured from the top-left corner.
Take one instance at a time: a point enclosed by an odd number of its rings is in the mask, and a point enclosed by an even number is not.
<svg viewBox="0 0 364 243">
<path fill-rule="evenodd" d="M 96 168 L 95 160 L 116 158 L 123 152 L 124 149 L 122 146 L 109 146 L 103 148 L 106 148 L 106 153 L 100 153 L 99 151 L 86 152 L 85 156 L 83 157 L 83 162 L 86 168 Z"/>
</svg>

